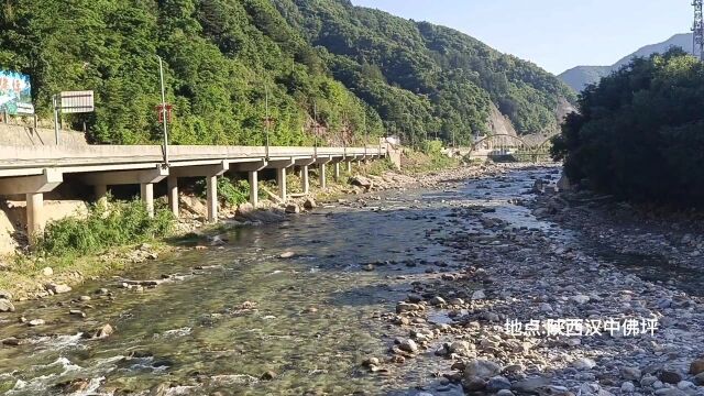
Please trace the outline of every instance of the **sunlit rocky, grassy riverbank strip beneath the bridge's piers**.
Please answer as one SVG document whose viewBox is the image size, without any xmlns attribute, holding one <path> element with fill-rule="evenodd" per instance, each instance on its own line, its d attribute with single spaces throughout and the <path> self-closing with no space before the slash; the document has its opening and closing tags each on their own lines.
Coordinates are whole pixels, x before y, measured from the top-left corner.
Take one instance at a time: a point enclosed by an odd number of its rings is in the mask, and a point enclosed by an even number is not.
<svg viewBox="0 0 704 396">
<path fill-rule="evenodd" d="M 385 163 L 361 164 L 353 175 L 340 183 L 330 182 L 324 190 L 311 178 L 312 193 L 302 196 L 296 190 L 296 177 L 289 179 L 295 198 L 287 202 L 264 200 L 262 208 L 253 210 L 249 204 L 221 208 L 221 222 L 212 226 L 205 221 L 206 207 L 201 199 L 182 196 L 183 212 L 175 223 L 175 231 L 168 238 L 152 239 L 147 243 L 134 243 L 105 249 L 98 254 L 69 256 L 37 256 L 18 254 L 0 258 L 0 290 L 12 296 L 15 301 L 44 298 L 54 294 L 52 285 L 69 289 L 86 279 L 97 279 L 142 265 L 160 255 L 168 255 L 182 250 L 217 249 L 222 243 L 217 237 L 230 228 L 279 222 L 289 216 L 314 210 L 318 205 L 349 205 L 359 199 L 375 198 L 374 194 L 387 189 L 409 188 L 416 185 L 433 186 L 444 179 L 474 177 L 482 173 L 495 172 L 495 166 L 471 166 L 449 168 L 438 172 L 430 160 L 414 158 L 413 173 L 391 172 Z M 433 169 L 433 172 L 429 172 Z"/>
</svg>

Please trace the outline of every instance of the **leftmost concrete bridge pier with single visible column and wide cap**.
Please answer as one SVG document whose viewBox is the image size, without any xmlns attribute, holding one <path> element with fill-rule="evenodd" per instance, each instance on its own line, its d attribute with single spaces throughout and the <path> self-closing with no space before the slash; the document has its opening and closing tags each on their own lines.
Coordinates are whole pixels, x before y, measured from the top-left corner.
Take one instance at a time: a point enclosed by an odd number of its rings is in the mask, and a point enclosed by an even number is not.
<svg viewBox="0 0 704 396">
<path fill-rule="evenodd" d="M 30 244 L 44 231 L 44 193 L 54 190 L 64 182 L 64 175 L 45 168 L 41 175 L 0 178 L 0 196 L 24 195 L 26 200 L 26 233 Z"/>
</svg>

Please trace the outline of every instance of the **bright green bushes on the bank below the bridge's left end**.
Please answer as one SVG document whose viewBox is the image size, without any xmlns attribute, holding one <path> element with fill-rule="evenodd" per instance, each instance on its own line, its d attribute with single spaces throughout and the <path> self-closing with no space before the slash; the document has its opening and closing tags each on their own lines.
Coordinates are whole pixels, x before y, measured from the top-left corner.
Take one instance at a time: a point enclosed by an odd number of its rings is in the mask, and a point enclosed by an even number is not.
<svg viewBox="0 0 704 396">
<path fill-rule="evenodd" d="M 50 222 L 36 244 L 37 252 L 52 256 L 85 255 L 110 246 L 144 242 L 167 235 L 173 215 L 157 210 L 150 218 L 140 200 L 96 205 L 86 218 L 68 217 Z"/>
</svg>

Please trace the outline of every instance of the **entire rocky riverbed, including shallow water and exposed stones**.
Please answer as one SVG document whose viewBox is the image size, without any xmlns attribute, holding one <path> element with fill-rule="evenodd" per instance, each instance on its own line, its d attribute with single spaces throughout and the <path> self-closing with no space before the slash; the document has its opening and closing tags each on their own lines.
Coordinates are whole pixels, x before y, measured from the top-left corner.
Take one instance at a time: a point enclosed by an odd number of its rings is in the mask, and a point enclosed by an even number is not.
<svg viewBox="0 0 704 396">
<path fill-rule="evenodd" d="M 697 234 L 664 261 L 651 258 L 647 241 L 659 237 L 647 227 L 604 243 L 619 229 L 591 215 L 600 199 L 575 209 L 550 187 L 536 194 L 559 174 L 465 168 L 400 189 L 376 180 L 311 216 L 18 302 L 0 317 L 0 389 L 704 394 L 702 301 L 684 292 L 701 279 L 640 271 L 678 260 L 695 271 Z M 631 248 L 628 265 L 618 245 Z"/>
</svg>

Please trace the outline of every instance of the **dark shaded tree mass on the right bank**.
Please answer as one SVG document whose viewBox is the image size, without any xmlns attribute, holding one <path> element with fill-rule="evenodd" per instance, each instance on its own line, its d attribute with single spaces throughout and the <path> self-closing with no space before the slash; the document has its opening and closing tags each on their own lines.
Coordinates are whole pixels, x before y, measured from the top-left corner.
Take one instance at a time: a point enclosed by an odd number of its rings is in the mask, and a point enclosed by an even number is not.
<svg viewBox="0 0 704 396">
<path fill-rule="evenodd" d="M 586 88 L 552 153 L 571 179 L 635 200 L 704 199 L 704 65 L 682 50 L 636 58 Z"/>
</svg>

